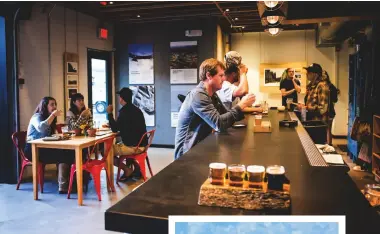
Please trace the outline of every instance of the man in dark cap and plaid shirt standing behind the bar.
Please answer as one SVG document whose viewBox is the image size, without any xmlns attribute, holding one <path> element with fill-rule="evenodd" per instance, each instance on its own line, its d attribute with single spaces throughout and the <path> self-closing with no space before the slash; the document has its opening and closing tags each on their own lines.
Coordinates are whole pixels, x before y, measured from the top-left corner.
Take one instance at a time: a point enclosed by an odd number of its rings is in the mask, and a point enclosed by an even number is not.
<svg viewBox="0 0 380 234">
<path fill-rule="evenodd" d="M 317 63 L 304 67 L 307 71 L 307 79 L 310 83 L 306 88 L 305 105 L 308 111 L 308 119 L 322 120 L 327 123 L 329 110 L 330 89 L 325 81 L 322 81 L 322 67 Z"/>
</svg>

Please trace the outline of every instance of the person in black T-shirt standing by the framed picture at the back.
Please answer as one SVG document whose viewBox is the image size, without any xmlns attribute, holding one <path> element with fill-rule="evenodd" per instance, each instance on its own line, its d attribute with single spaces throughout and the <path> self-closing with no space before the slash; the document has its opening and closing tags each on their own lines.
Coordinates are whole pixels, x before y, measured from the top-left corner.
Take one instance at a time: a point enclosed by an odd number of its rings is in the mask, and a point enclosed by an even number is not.
<svg viewBox="0 0 380 234">
<path fill-rule="evenodd" d="M 297 93 L 301 92 L 301 82 L 294 77 L 294 68 L 287 68 L 284 73 L 284 79 L 280 82 L 282 105 L 286 106 L 286 99 L 288 98 L 291 98 L 293 103 L 298 103 Z"/>
</svg>

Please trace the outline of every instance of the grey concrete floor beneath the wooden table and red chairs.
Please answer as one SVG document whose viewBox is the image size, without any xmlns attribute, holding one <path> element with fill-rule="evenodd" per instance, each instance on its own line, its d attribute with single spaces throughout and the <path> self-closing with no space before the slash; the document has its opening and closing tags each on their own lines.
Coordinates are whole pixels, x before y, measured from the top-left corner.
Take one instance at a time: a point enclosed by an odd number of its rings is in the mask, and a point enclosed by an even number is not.
<svg viewBox="0 0 380 234">
<path fill-rule="evenodd" d="M 346 144 L 346 140 L 334 139 L 333 145 Z M 335 147 L 337 151 L 339 148 Z M 344 155 L 344 160 L 352 168 L 354 164 Z M 154 173 L 158 173 L 173 160 L 173 149 L 151 148 L 150 161 Z M 84 206 L 78 207 L 76 194 L 67 200 L 66 195 L 57 192 L 55 166 L 49 168 L 46 175 L 44 194 L 39 201 L 33 200 L 31 178 L 21 184 L 16 191 L 15 185 L 0 184 L 0 233 L 111 233 L 104 230 L 104 211 L 128 195 L 142 181 L 120 183 L 115 193 L 108 193 L 105 183 L 105 173 L 102 175 L 102 201 L 97 200 L 93 181 L 89 190 L 84 194 Z M 359 189 L 367 183 L 374 183 L 369 172 L 351 170 L 352 177 Z"/>
</svg>

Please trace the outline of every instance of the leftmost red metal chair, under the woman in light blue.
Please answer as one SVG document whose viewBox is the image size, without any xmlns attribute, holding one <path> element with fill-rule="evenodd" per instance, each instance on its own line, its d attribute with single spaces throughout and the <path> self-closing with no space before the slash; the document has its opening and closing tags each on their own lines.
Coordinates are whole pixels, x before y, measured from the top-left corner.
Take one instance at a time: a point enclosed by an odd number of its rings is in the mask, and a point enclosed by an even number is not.
<svg viewBox="0 0 380 234">
<path fill-rule="evenodd" d="M 26 144 L 26 131 L 15 132 L 12 134 L 12 141 L 21 158 L 21 172 L 16 186 L 16 190 L 19 190 L 22 176 L 24 175 L 24 169 L 26 166 L 32 166 L 32 162 L 25 156 L 24 148 Z M 44 173 L 45 164 L 38 163 L 38 181 L 41 187 L 41 193 L 44 192 Z"/>
</svg>

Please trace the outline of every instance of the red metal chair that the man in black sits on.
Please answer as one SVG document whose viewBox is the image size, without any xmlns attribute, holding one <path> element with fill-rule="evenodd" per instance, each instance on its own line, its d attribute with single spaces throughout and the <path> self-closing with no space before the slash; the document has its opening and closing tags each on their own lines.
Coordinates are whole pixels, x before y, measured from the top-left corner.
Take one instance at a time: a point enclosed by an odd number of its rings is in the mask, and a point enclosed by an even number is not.
<svg viewBox="0 0 380 234">
<path fill-rule="evenodd" d="M 135 154 L 132 154 L 132 155 L 119 155 L 119 168 L 117 170 L 117 180 L 116 180 L 117 183 L 120 180 L 121 164 L 127 158 L 132 158 L 132 159 L 136 160 L 137 163 L 140 165 L 141 174 L 143 176 L 144 181 L 146 181 L 145 160 L 146 160 L 146 163 L 148 164 L 148 169 L 149 169 L 150 175 L 153 176 L 152 168 L 150 167 L 150 162 L 149 162 L 149 158 L 148 158 L 148 149 L 149 149 L 150 145 L 152 144 L 155 132 L 156 132 L 156 129 L 153 129 L 151 131 L 146 132 L 141 137 L 139 144 L 135 148 Z M 145 146 L 145 149 L 144 149 L 143 152 L 137 153 L 138 152 L 138 148 L 140 147 L 140 144 L 143 141 L 144 137 L 148 138 L 148 145 Z"/>
</svg>

